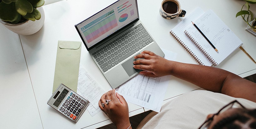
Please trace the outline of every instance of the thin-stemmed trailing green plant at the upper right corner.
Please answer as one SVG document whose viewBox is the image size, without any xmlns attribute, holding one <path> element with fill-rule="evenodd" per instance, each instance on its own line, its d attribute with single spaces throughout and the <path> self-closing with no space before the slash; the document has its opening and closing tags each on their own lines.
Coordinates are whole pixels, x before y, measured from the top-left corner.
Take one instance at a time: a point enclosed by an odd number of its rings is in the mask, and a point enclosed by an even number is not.
<svg viewBox="0 0 256 129">
<path fill-rule="evenodd" d="M 236 17 L 241 16 L 242 19 L 248 24 L 246 31 L 256 36 L 256 17 L 250 10 L 250 4 L 255 4 L 256 0 L 244 0 L 245 4 L 242 6 L 241 11 L 236 14 Z M 245 10 L 243 10 L 245 8 Z"/>
</svg>

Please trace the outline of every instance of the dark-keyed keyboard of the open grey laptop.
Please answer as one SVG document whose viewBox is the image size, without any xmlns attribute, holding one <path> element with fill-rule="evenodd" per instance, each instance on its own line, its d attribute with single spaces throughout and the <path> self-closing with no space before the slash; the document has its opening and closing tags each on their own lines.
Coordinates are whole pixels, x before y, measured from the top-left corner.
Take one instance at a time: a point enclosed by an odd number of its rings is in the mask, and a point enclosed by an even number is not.
<svg viewBox="0 0 256 129">
<path fill-rule="evenodd" d="M 106 72 L 151 42 L 152 38 L 139 24 L 92 55 Z"/>
</svg>

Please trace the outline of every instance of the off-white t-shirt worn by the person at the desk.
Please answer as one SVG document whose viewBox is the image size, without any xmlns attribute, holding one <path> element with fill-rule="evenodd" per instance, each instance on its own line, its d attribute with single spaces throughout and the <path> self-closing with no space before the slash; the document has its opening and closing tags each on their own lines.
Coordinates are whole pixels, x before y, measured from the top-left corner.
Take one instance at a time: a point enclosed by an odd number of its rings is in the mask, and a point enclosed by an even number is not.
<svg viewBox="0 0 256 129">
<path fill-rule="evenodd" d="M 197 129 L 206 120 L 208 114 L 217 113 L 233 100 L 238 100 L 248 109 L 256 108 L 256 103 L 246 99 L 196 90 L 166 103 L 162 106 L 160 113 L 151 112 L 140 122 L 137 129 Z"/>
</svg>

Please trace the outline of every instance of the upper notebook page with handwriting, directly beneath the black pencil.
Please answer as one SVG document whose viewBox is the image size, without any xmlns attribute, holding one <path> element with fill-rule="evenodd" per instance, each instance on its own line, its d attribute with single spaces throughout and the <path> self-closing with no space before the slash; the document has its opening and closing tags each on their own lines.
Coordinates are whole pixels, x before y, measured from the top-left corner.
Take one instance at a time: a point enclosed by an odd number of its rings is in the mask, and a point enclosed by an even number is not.
<svg viewBox="0 0 256 129">
<path fill-rule="evenodd" d="M 224 22 L 209 10 L 193 21 L 204 35 L 219 50 L 216 52 L 203 35 L 190 22 L 187 32 L 197 41 L 217 64 L 233 53 L 243 42 L 224 24 Z M 194 51 L 194 50 L 193 50 Z"/>
</svg>

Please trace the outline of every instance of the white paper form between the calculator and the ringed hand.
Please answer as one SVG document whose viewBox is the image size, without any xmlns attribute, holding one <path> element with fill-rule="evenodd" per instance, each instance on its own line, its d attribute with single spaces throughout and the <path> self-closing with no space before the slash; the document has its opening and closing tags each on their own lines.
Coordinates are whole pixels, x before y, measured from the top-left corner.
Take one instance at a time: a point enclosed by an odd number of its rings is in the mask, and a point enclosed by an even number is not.
<svg viewBox="0 0 256 129">
<path fill-rule="evenodd" d="M 98 103 L 104 93 L 105 91 L 99 87 L 98 83 L 91 78 L 88 72 L 80 65 L 77 94 L 86 98 L 90 102 L 87 110 L 91 116 L 94 116 L 101 111 Z"/>
</svg>

